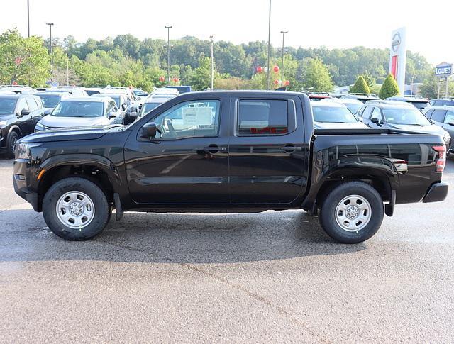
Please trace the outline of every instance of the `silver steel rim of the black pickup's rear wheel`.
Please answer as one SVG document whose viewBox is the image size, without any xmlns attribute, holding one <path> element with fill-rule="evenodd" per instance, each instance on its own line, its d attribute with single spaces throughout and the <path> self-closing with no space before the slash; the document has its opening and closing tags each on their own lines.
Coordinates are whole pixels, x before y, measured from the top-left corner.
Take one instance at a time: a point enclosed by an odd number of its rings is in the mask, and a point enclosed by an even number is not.
<svg viewBox="0 0 454 344">
<path fill-rule="evenodd" d="M 372 216 L 369 202 L 362 196 L 344 197 L 336 206 L 336 222 L 348 232 L 358 232 L 367 226 Z"/>
</svg>

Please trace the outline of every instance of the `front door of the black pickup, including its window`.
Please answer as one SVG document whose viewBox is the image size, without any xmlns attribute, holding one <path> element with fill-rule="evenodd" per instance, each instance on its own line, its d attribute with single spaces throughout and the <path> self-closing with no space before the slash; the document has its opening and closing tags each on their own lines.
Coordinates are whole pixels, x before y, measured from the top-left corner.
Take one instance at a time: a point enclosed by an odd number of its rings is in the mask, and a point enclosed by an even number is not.
<svg viewBox="0 0 454 344">
<path fill-rule="evenodd" d="M 228 102 L 183 101 L 140 121 L 125 146 L 131 197 L 138 204 L 228 204 Z M 155 122 L 157 137 L 141 137 Z"/>
</svg>

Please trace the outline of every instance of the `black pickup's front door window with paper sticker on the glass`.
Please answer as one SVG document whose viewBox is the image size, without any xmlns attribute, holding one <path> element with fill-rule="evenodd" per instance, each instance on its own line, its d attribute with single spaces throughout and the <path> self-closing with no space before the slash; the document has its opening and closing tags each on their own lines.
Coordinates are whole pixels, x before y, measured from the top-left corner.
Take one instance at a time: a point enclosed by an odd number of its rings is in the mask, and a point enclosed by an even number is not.
<svg viewBox="0 0 454 344">
<path fill-rule="evenodd" d="M 153 118 L 157 139 L 200 138 L 218 135 L 221 102 L 185 101 Z"/>
</svg>

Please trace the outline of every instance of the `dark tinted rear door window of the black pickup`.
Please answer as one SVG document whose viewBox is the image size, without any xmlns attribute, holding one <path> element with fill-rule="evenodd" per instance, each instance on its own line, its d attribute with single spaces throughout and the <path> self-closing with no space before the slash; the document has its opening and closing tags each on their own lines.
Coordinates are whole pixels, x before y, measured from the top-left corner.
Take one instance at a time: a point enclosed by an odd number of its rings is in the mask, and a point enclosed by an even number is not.
<svg viewBox="0 0 454 344">
<path fill-rule="evenodd" d="M 287 100 L 240 100 L 238 135 L 285 135 L 289 133 Z"/>
</svg>

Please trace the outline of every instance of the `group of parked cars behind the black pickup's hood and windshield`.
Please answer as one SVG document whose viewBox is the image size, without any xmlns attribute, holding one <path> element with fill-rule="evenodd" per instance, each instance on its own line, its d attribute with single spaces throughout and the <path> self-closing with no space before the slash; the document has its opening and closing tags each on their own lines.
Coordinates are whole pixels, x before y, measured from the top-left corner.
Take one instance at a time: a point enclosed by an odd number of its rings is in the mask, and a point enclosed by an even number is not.
<svg viewBox="0 0 454 344">
<path fill-rule="evenodd" d="M 163 87 L 151 94 L 121 87 L 0 86 L 0 153 L 14 156 L 19 138 L 36 131 L 79 126 L 127 125 L 187 87 Z"/>
</svg>

